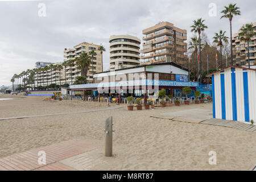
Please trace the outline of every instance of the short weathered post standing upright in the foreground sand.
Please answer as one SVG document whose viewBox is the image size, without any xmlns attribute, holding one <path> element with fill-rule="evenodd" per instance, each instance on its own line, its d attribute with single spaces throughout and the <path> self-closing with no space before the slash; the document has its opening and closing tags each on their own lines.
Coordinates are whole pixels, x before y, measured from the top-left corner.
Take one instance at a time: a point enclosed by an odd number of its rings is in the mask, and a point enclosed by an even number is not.
<svg viewBox="0 0 256 182">
<path fill-rule="evenodd" d="M 112 156 L 112 132 L 113 132 L 112 116 L 105 121 L 105 156 Z"/>
</svg>

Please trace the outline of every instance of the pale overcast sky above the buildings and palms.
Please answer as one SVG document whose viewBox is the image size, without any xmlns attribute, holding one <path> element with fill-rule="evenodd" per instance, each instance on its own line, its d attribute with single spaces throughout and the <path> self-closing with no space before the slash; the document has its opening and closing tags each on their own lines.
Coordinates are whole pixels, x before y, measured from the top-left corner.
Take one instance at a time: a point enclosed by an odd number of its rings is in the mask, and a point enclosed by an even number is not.
<svg viewBox="0 0 256 182">
<path fill-rule="evenodd" d="M 42 6 L 40 3 L 44 3 Z M 216 16 L 209 14 L 216 5 Z M 0 0 L 0 85 L 11 85 L 11 77 L 35 68 L 36 61 L 64 60 L 64 48 L 81 42 L 102 44 L 104 70 L 109 68 L 110 35 L 133 35 L 142 39 L 142 30 L 163 21 L 187 30 L 193 36 L 192 21 L 205 19 L 210 41 L 214 32 L 230 35 L 229 20 L 220 20 L 220 11 L 237 3 L 241 16 L 232 22 L 233 33 L 245 23 L 256 22 L 255 0 Z M 44 16 L 45 15 L 45 16 Z"/>
</svg>

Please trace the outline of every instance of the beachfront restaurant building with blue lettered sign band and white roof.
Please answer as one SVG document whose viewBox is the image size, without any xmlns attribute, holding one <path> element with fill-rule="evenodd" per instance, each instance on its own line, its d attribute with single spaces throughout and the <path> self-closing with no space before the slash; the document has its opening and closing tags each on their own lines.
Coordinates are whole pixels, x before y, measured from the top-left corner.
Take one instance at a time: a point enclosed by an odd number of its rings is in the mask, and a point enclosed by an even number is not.
<svg viewBox="0 0 256 182">
<path fill-rule="evenodd" d="M 188 69 L 175 63 L 139 65 L 137 67 L 105 71 L 93 75 L 92 84 L 70 85 L 72 95 L 76 92 L 97 91 L 97 97 L 118 96 L 121 98 L 134 96 L 158 97 L 158 90 L 166 89 L 167 95 L 181 97 L 182 88 L 190 86 L 195 90 L 199 84 L 188 81 Z M 72 97 L 71 97 L 72 98 Z M 100 101 L 100 100 L 99 100 Z"/>
</svg>

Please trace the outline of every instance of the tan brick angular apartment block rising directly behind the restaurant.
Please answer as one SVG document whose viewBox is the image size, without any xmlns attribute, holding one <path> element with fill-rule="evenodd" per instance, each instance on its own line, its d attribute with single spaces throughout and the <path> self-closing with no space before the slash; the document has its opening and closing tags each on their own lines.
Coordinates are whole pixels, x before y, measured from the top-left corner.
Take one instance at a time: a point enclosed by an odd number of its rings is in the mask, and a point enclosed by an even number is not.
<svg viewBox="0 0 256 182">
<path fill-rule="evenodd" d="M 177 28 L 169 22 L 160 22 L 142 31 L 143 49 L 141 64 L 187 63 L 187 30 Z"/>
</svg>

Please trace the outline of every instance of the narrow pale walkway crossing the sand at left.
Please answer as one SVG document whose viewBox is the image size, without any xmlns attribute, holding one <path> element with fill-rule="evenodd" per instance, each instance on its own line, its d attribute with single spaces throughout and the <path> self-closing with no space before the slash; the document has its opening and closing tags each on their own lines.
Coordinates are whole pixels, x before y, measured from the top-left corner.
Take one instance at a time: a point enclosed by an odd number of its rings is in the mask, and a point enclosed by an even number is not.
<svg viewBox="0 0 256 182">
<path fill-rule="evenodd" d="M 7 119 L 22 119 L 22 118 L 34 118 L 34 117 L 46 117 L 46 116 L 51 116 L 51 115 L 92 113 L 92 112 L 97 112 L 97 111 L 114 110 L 114 109 L 120 109 L 120 108 L 122 108 L 122 106 L 118 106 L 118 107 L 109 107 L 109 108 L 106 108 L 106 109 L 98 109 L 98 110 L 77 111 L 77 112 L 73 112 L 73 113 L 57 113 L 57 114 L 42 114 L 42 115 L 24 115 L 24 116 L 20 116 L 20 117 L 0 118 L 0 121 L 2 121 L 2 120 L 7 120 Z"/>
</svg>

